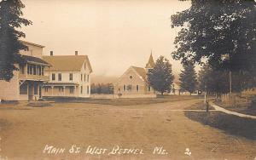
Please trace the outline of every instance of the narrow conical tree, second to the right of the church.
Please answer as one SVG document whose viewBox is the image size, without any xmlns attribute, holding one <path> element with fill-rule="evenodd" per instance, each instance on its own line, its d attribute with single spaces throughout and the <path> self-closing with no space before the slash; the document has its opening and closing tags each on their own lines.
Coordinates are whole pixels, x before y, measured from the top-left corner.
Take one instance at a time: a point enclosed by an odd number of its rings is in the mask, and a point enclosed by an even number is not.
<svg viewBox="0 0 256 160">
<path fill-rule="evenodd" d="M 183 66 L 184 70 L 179 75 L 180 87 L 183 90 L 189 91 L 189 94 L 196 89 L 196 73 L 195 66 L 188 64 Z"/>
</svg>

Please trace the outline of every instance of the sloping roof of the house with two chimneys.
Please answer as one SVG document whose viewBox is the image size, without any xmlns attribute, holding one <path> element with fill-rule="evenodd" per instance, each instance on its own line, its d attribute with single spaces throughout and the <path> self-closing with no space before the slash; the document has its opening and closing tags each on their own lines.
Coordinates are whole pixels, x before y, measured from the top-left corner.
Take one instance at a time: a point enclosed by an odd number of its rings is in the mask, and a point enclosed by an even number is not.
<svg viewBox="0 0 256 160">
<path fill-rule="evenodd" d="M 43 59 L 52 66 L 49 71 L 80 71 L 86 61 L 92 72 L 87 55 L 53 55 L 43 56 Z"/>
</svg>

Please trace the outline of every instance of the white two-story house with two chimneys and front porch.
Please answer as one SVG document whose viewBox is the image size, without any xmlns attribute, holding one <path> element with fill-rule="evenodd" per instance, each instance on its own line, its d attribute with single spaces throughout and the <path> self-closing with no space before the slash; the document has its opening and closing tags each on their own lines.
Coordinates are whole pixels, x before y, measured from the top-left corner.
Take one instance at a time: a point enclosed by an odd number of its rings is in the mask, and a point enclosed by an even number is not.
<svg viewBox="0 0 256 160">
<path fill-rule="evenodd" d="M 51 65 L 45 75 L 44 97 L 90 97 L 90 60 L 87 55 L 53 55 L 43 59 Z"/>
</svg>

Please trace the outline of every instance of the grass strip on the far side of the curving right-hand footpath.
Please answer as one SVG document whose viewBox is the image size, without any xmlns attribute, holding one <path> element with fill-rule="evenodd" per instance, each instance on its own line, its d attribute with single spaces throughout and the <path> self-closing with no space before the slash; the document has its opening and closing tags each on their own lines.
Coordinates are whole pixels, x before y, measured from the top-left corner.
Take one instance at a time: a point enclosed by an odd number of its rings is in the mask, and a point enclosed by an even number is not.
<svg viewBox="0 0 256 160">
<path fill-rule="evenodd" d="M 229 111 L 236 111 L 239 113 L 256 116 L 256 105 L 253 106 L 227 106 L 220 101 L 215 102 L 216 105 L 224 107 Z"/>
</svg>

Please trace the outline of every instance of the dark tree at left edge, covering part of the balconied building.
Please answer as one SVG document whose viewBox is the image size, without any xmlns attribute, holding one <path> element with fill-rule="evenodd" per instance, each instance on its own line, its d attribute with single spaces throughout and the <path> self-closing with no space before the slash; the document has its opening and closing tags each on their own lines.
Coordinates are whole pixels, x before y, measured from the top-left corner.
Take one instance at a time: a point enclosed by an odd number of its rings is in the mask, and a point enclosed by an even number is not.
<svg viewBox="0 0 256 160">
<path fill-rule="evenodd" d="M 13 71 L 17 70 L 15 63 L 20 63 L 20 49 L 27 49 L 20 43 L 19 38 L 25 33 L 18 31 L 22 25 L 28 26 L 32 22 L 21 18 L 25 5 L 20 0 L 0 1 L 0 79 L 9 81 Z"/>
</svg>

